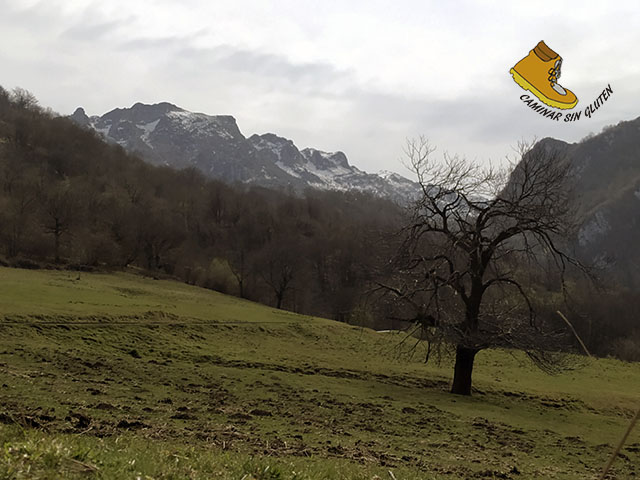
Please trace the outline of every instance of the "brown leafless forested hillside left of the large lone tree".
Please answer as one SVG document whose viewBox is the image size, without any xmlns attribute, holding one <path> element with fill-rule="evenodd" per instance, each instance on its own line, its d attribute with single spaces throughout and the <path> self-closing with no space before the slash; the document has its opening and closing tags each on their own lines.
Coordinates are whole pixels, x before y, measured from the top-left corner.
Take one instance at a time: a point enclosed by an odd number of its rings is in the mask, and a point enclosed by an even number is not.
<svg viewBox="0 0 640 480">
<path fill-rule="evenodd" d="M 20 89 L 0 89 L 0 206 L 9 265 L 138 267 L 370 324 L 367 281 L 402 215 L 362 193 L 300 197 L 151 166 Z"/>
</svg>

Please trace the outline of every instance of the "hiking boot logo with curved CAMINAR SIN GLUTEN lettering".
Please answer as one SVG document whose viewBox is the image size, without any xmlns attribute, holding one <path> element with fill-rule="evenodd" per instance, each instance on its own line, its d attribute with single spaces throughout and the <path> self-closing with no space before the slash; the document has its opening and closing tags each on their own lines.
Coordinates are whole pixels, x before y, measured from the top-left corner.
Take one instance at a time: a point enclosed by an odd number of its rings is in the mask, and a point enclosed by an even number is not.
<svg viewBox="0 0 640 480">
<path fill-rule="evenodd" d="M 528 94 L 520 96 L 520 100 L 545 118 L 556 121 L 563 118 L 563 111 L 572 110 L 578 104 L 578 97 L 558 83 L 561 69 L 562 57 L 542 40 L 509 70 L 513 81 L 542 103 L 536 102 Z M 585 117 L 591 118 L 591 115 L 608 100 L 612 93 L 611 85 L 607 85 L 596 101 L 584 110 Z M 581 111 L 565 113 L 564 121 L 574 122 L 581 116 Z"/>
</svg>

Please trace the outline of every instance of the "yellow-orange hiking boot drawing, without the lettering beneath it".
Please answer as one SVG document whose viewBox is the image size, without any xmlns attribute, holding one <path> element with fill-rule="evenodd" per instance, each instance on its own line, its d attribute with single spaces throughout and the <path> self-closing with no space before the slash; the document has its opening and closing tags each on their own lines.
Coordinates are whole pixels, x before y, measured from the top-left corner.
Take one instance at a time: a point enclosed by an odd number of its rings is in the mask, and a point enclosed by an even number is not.
<svg viewBox="0 0 640 480">
<path fill-rule="evenodd" d="M 540 41 L 509 73 L 518 85 L 550 107 L 565 110 L 575 107 L 578 99 L 558 83 L 561 66 L 562 57 Z"/>
</svg>

